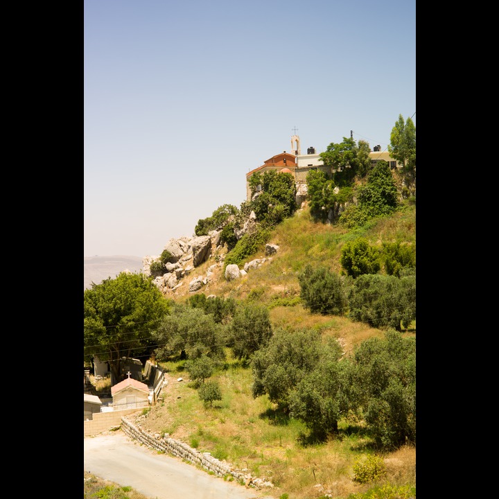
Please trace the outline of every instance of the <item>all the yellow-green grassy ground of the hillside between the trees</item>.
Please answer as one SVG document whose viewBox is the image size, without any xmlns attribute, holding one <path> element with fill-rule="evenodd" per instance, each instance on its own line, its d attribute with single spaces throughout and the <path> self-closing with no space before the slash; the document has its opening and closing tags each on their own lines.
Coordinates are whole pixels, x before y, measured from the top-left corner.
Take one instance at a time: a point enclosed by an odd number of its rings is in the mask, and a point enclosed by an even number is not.
<svg viewBox="0 0 499 499">
<path fill-rule="evenodd" d="M 297 274 L 306 263 L 328 265 L 340 272 L 342 245 L 352 238 L 364 236 L 371 244 L 381 241 L 403 240 L 415 243 L 415 208 L 378 220 L 355 234 L 315 224 L 308 209 L 299 211 L 274 231 L 271 243 L 279 245 L 279 252 L 258 270 L 250 270 L 246 277 L 228 283 L 222 269 L 213 281 L 200 292 L 209 295 L 258 299 L 271 306 L 274 326 L 319 329 L 322 335 L 333 335 L 344 347 L 353 351 L 356 344 L 383 331 L 351 322 L 346 317 L 310 314 L 301 305 L 273 306 L 279 300 L 299 297 Z M 263 252 L 252 256 L 263 258 Z M 206 274 L 213 261 L 205 262 L 191 274 Z M 189 297 L 188 286 L 182 286 L 175 299 Z M 415 335 L 415 322 L 404 335 Z M 306 428 L 298 421 L 279 414 L 266 396 L 253 399 L 251 369 L 229 360 L 229 368 L 213 375 L 222 387 L 223 398 L 204 408 L 198 393 L 188 381 L 182 362 L 159 362 L 166 369 L 169 385 L 164 389 L 164 401 L 146 415 L 139 417 L 141 426 L 151 432 L 168 432 L 202 451 L 209 451 L 220 459 L 227 459 L 240 469 L 276 486 L 268 492 L 272 498 L 288 493 L 289 499 L 310 499 L 331 493 L 337 499 L 346 499 L 349 493 L 367 491 L 370 486 L 356 484 L 353 464 L 365 453 L 372 452 L 369 440 L 360 431 L 352 431 L 347 423 L 340 424 L 341 435 L 325 444 L 311 445 L 306 439 Z M 178 383 L 177 378 L 184 378 Z M 186 380 L 186 381 L 185 381 Z M 388 480 L 397 485 L 415 485 L 415 448 L 401 448 L 383 455 L 389 459 Z M 320 487 L 317 485 L 320 484 Z"/>
</svg>

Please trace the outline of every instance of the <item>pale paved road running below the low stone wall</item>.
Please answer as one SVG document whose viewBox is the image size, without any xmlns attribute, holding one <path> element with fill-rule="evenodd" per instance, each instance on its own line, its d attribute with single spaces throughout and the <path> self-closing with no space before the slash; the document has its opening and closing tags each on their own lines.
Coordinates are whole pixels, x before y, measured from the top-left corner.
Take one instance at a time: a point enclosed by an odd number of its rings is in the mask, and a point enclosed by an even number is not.
<svg viewBox="0 0 499 499">
<path fill-rule="evenodd" d="M 256 489 L 209 475 L 181 459 L 135 443 L 121 430 L 84 437 L 84 471 L 152 499 L 260 499 Z"/>
</svg>

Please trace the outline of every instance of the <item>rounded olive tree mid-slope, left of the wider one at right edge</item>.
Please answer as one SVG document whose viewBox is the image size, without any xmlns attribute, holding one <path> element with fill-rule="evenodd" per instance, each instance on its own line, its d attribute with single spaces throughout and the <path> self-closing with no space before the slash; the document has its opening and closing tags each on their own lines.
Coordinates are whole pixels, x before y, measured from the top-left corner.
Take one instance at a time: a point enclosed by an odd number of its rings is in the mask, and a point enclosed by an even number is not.
<svg viewBox="0 0 499 499">
<path fill-rule="evenodd" d="M 312 313 L 343 315 L 347 310 L 347 290 L 342 278 L 324 266 L 308 264 L 298 274 L 300 297 Z"/>
</svg>

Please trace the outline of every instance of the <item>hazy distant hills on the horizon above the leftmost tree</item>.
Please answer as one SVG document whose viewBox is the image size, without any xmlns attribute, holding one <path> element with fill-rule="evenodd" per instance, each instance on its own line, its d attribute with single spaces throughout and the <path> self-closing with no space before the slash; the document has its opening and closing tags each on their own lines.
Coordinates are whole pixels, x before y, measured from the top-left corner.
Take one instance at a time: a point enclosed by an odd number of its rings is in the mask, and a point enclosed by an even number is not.
<svg viewBox="0 0 499 499">
<path fill-rule="evenodd" d="M 90 289 L 91 283 L 100 284 L 104 279 L 114 279 L 123 270 L 132 274 L 142 272 L 141 256 L 84 256 L 83 289 Z"/>
</svg>

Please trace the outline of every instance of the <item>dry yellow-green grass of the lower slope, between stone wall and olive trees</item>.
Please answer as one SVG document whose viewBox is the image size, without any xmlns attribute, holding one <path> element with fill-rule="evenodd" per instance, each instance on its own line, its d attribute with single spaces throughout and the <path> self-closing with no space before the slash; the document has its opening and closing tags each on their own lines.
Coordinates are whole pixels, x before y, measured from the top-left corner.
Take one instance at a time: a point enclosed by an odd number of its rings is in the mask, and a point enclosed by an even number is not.
<svg viewBox="0 0 499 499">
<path fill-rule="evenodd" d="M 352 332 L 352 338 L 345 337 L 347 344 L 356 344 L 367 335 L 356 328 Z M 162 366 L 168 379 L 161 393 L 163 401 L 148 414 L 137 414 L 136 422 L 145 430 L 168 432 L 174 439 L 270 480 L 274 489 L 263 492 L 270 498 L 288 493 L 290 499 L 313 499 L 331 493 L 333 498 L 346 499 L 349 493 L 369 489 L 352 480 L 356 459 L 371 452 L 361 432 L 351 431 L 343 422 L 339 437 L 324 444 L 306 444 L 308 432 L 303 423 L 285 417 L 266 396 L 252 398 L 251 369 L 234 360 L 229 365 L 213 375 L 222 389 L 222 401 L 213 403 L 213 408 L 204 407 L 181 364 Z M 414 484 L 415 456 L 411 447 L 383 455 L 387 480 Z"/>
</svg>

